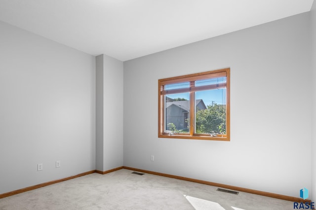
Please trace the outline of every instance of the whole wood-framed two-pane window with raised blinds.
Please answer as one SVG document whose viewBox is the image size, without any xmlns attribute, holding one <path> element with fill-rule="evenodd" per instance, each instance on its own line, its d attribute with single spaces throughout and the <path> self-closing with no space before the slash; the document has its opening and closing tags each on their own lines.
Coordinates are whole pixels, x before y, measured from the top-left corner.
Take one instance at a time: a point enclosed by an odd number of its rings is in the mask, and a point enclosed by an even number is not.
<svg viewBox="0 0 316 210">
<path fill-rule="evenodd" d="M 230 141 L 230 68 L 158 80 L 158 137 Z"/>
</svg>

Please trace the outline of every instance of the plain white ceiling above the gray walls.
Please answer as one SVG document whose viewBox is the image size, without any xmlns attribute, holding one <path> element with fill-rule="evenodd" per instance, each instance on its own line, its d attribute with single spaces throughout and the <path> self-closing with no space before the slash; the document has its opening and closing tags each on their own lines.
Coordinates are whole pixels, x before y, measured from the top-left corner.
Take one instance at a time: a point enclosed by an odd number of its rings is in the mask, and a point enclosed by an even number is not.
<svg viewBox="0 0 316 210">
<path fill-rule="evenodd" d="M 130 60 L 310 11 L 313 0 L 0 0 L 0 20 Z"/>
</svg>

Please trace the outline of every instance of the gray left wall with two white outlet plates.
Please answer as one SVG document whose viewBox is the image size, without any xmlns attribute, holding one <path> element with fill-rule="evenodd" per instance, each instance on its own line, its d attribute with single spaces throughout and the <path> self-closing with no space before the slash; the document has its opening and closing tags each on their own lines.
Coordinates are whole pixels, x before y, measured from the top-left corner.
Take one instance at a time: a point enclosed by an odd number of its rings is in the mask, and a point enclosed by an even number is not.
<svg viewBox="0 0 316 210">
<path fill-rule="evenodd" d="M 95 57 L 0 31 L 0 194 L 94 170 Z"/>
</svg>

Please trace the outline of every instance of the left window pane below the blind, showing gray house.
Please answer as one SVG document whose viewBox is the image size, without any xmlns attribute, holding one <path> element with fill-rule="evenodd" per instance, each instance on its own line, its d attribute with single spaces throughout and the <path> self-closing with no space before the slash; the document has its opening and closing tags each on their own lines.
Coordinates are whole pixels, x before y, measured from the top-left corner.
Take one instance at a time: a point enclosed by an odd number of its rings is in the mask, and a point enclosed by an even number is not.
<svg viewBox="0 0 316 210">
<path fill-rule="evenodd" d="M 165 132 L 189 133 L 189 117 L 189 92 L 165 95 Z"/>
</svg>

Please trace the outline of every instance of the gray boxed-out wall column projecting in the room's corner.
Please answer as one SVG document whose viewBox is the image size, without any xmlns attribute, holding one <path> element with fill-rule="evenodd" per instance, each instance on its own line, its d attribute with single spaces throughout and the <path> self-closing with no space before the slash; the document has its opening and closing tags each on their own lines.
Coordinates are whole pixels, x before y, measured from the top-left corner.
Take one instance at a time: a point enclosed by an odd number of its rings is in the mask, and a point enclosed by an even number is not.
<svg viewBox="0 0 316 210">
<path fill-rule="evenodd" d="M 123 62 L 96 57 L 96 169 L 123 165 Z"/>
</svg>

